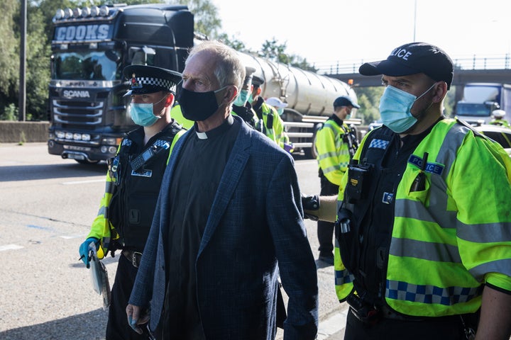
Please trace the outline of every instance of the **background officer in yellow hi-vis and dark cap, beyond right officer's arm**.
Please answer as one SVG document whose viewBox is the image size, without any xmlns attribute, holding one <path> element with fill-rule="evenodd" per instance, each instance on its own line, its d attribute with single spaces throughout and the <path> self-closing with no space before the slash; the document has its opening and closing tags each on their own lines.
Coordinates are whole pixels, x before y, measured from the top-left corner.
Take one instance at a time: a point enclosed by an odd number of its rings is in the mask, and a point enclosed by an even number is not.
<svg viewBox="0 0 511 340">
<path fill-rule="evenodd" d="M 317 150 L 318 176 L 321 195 L 339 193 L 339 185 L 348 164 L 355 154 L 357 141 L 355 133 L 344 120 L 351 115 L 353 108 L 360 108 L 349 96 L 340 96 L 334 101 L 334 114 L 330 116 L 316 133 L 314 146 Z M 317 222 L 319 260 L 334 265 L 334 223 Z"/>
</svg>

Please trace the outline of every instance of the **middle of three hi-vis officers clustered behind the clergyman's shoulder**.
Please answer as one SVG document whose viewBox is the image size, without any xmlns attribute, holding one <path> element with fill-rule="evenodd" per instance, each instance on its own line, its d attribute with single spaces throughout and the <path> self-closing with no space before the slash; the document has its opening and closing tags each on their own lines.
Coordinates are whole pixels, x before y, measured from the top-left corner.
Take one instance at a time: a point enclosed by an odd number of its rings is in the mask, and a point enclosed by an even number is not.
<svg viewBox="0 0 511 340">
<path fill-rule="evenodd" d="M 289 141 L 289 137 L 284 131 L 284 122 L 277 110 L 273 106 L 265 103 L 265 100 L 261 94 L 261 85 L 264 84 L 264 80 L 258 76 L 252 77 L 252 93 L 249 101 L 252 104 L 252 108 L 259 118 L 259 128 L 270 140 L 277 143 L 282 149 L 287 152 L 291 152 L 289 147 L 286 147 L 286 143 Z"/>
</svg>

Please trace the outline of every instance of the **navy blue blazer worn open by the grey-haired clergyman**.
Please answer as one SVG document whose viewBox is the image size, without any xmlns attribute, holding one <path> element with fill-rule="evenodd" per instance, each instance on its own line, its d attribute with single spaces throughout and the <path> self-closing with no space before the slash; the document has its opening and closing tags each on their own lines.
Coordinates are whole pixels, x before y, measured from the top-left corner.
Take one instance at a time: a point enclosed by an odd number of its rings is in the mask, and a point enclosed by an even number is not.
<svg viewBox="0 0 511 340">
<path fill-rule="evenodd" d="M 150 305 L 151 329 L 158 325 L 165 298 L 163 249 L 172 205 L 167 188 L 182 145 L 194 134 L 194 128 L 186 132 L 170 157 L 129 300 Z M 317 272 L 294 161 L 245 123 L 216 191 L 195 268 L 207 339 L 275 339 L 279 272 L 289 296 L 284 339 L 315 339 Z"/>
</svg>

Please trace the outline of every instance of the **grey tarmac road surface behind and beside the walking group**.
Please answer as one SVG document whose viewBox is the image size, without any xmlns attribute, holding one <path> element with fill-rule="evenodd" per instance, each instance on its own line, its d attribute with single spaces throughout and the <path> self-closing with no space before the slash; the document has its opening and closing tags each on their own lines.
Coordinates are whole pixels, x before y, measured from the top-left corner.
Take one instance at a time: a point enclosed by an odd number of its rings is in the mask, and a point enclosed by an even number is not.
<svg viewBox="0 0 511 340">
<path fill-rule="evenodd" d="M 297 157 L 295 166 L 301 190 L 319 193 L 316 161 Z M 105 164 L 60 159 L 44 143 L 0 145 L 0 339 L 104 339 L 108 314 L 78 248 L 97 215 L 105 174 Z M 316 222 L 305 223 L 317 258 Z M 118 256 L 104 259 L 110 283 Z M 318 339 L 342 339 L 346 304 L 336 299 L 333 267 L 317 266 Z"/>
</svg>

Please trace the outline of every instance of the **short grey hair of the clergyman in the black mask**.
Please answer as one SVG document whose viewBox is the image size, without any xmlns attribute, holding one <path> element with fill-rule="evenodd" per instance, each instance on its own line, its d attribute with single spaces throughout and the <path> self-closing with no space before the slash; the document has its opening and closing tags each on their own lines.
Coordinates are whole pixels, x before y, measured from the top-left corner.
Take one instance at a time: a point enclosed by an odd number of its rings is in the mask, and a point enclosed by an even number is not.
<svg viewBox="0 0 511 340">
<path fill-rule="evenodd" d="M 238 52 L 219 41 L 207 40 L 192 47 L 185 65 L 193 55 L 204 51 L 216 55 L 216 68 L 213 73 L 219 81 L 220 87 L 234 85 L 239 91 L 241 84 L 243 84 L 243 79 L 245 79 L 245 66 L 238 57 Z"/>
</svg>

